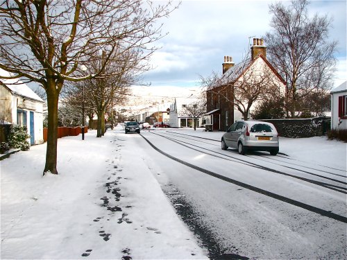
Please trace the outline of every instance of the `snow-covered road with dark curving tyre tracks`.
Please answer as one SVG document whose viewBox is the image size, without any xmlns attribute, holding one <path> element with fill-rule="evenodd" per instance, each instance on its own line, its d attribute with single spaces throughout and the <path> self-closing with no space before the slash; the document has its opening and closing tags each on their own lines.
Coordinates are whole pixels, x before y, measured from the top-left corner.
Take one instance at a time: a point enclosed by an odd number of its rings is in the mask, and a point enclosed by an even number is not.
<svg viewBox="0 0 347 260">
<path fill-rule="evenodd" d="M 173 201 L 184 196 L 178 211 L 194 212 L 196 220 L 188 224 L 214 239 L 210 251 L 251 259 L 346 257 L 344 164 L 268 153 L 242 156 L 221 150 L 218 134 L 206 134 L 142 131 L 161 152 L 149 146 L 163 167 L 158 180 L 167 193 L 174 189 Z"/>
</svg>

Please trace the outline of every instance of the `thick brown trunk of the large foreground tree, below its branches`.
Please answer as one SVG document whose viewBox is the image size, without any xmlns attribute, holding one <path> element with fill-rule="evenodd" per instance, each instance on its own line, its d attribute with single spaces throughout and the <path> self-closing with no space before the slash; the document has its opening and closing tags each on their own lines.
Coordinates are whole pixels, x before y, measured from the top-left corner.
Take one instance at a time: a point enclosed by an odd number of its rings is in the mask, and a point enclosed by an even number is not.
<svg viewBox="0 0 347 260">
<path fill-rule="evenodd" d="M 54 87 L 55 88 L 55 87 Z M 48 106 L 48 134 L 46 148 L 46 164 L 44 173 L 58 174 L 57 171 L 57 144 L 58 144 L 58 99 L 59 93 L 47 93 Z"/>
</svg>

